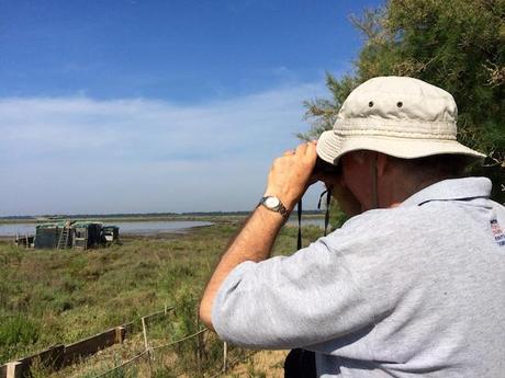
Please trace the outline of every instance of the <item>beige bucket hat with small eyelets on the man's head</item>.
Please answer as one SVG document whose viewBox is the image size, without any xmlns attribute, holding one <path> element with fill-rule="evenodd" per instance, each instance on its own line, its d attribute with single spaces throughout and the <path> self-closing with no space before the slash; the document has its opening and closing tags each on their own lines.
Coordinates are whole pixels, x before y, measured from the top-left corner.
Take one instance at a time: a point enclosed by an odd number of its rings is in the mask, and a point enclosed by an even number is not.
<svg viewBox="0 0 505 378">
<path fill-rule="evenodd" d="M 457 153 L 483 159 L 456 139 L 458 108 L 452 95 L 422 80 L 379 77 L 356 88 L 333 130 L 317 141 L 317 154 L 337 164 L 346 152 L 371 150 L 403 159 Z"/>
</svg>

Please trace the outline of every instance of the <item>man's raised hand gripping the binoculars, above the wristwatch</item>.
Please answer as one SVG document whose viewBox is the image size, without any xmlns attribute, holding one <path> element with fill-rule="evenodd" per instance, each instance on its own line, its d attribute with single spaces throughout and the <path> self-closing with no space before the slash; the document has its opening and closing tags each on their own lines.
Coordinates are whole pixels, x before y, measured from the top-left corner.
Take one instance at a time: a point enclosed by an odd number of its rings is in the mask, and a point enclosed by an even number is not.
<svg viewBox="0 0 505 378">
<path fill-rule="evenodd" d="M 294 205 L 313 183 L 311 180 L 317 153 L 316 142 L 310 141 L 284 152 L 273 161 L 268 175 L 265 195 L 277 196 L 291 211 Z"/>
</svg>

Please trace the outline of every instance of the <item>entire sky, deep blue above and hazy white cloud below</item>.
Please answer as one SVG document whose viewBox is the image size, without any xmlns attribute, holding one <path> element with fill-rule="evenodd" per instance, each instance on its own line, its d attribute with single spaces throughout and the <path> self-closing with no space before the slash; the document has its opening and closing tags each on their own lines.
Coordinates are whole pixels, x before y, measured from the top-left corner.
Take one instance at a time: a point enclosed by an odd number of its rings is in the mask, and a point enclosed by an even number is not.
<svg viewBox="0 0 505 378">
<path fill-rule="evenodd" d="M 380 3 L 0 0 L 0 216 L 252 208 Z"/>
</svg>

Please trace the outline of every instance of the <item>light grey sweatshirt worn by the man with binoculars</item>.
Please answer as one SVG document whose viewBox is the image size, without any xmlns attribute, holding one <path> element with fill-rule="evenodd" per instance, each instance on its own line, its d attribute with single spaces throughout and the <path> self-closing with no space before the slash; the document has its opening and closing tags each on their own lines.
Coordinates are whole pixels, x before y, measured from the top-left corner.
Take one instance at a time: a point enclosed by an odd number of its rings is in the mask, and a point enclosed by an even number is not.
<svg viewBox="0 0 505 378">
<path fill-rule="evenodd" d="M 505 377 L 505 208 L 491 182 L 438 182 L 291 256 L 238 265 L 218 335 L 316 352 L 319 377 Z"/>
</svg>

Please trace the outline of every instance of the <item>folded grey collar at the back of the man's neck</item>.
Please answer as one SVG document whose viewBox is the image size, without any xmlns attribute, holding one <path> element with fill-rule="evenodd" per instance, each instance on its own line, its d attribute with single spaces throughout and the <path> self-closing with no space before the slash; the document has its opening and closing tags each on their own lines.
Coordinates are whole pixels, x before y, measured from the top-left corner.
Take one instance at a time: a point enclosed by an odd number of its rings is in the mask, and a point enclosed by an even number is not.
<svg viewBox="0 0 505 378">
<path fill-rule="evenodd" d="M 489 198 L 491 187 L 491 180 L 487 177 L 442 180 L 413 194 L 400 206 L 420 206 L 430 201 Z"/>
</svg>

